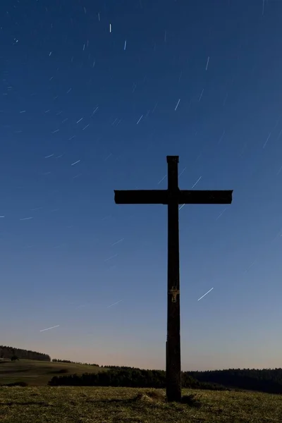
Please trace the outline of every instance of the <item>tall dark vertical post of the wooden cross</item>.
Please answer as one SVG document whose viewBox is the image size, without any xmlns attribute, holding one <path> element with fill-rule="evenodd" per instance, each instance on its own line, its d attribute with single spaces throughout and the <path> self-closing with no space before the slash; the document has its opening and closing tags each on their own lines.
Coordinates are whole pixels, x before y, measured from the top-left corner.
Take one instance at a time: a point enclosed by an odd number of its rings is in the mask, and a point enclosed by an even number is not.
<svg viewBox="0 0 282 423">
<path fill-rule="evenodd" d="M 178 157 L 168 156 L 168 305 L 166 398 L 181 400 Z"/>
</svg>

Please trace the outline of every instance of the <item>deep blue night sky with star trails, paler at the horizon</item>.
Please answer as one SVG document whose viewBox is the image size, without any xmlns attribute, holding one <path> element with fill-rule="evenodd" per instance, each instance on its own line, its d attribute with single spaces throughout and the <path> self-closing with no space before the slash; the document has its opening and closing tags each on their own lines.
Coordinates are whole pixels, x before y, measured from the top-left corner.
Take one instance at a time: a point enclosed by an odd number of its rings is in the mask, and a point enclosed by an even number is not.
<svg viewBox="0 0 282 423">
<path fill-rule="evenodd" d="M 0 21 L 0 343 L 164 369 L 167 209 L 114 189 L 166 189 L 179 155 L 180 188 L 234 190 L 179 212 L 183 369 L 281 367 L 281 1 L 6 0 Z"/>
</svg>

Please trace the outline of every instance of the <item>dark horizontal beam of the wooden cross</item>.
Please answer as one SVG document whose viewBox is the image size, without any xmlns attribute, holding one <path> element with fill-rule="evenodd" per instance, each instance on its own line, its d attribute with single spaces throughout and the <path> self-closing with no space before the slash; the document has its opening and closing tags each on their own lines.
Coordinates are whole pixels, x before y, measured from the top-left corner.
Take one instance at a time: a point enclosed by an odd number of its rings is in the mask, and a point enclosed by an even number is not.
<svg viewBox="0 0 282 423">
<path fill-rule="evenodd" d="M 116 204 L 231 204 L 233 190 L 115 190 Z"/>
</svg>

